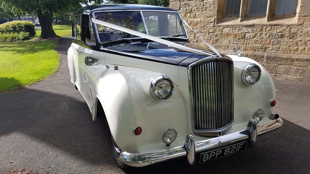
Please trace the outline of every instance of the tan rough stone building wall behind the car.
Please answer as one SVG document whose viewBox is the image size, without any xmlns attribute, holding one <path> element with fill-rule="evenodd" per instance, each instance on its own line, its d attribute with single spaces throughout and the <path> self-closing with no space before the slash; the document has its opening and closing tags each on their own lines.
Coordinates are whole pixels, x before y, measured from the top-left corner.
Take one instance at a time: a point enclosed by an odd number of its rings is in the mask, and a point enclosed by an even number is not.
<svg viewBox="0 0 310 174">
<path fill-rule="evenodd" d="M 310 16 L 298 13 L 277 17 L 223 17 L 223 0 L 170 0 L 188 24 L 222 53 L 233 46 L 272 74 L 302 78 L 310 71 Z M 309 2 L 310 4 L 310 2 Z M 190 41 L 203 43 L 188 29 Z"/>
</svg>

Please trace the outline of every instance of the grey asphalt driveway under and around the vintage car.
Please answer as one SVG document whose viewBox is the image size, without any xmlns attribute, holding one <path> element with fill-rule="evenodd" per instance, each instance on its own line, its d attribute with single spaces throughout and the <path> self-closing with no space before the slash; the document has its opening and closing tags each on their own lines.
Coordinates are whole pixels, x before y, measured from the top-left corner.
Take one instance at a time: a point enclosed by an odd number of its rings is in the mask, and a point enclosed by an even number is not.
<svg viewBox="0 0 310 174">
<path fill-rule="evenodd" d="M 119 169 L 112 160 L 104 121 L 91 120 L 70 83 L 63 38 L 59 72 L 30 87 L 0 93 L 0 173 L 310 173 L 310 83 L 275 78 L 275 113 L 281 129 L 259 137 L 255 149 L 196 166 L 185 158 L 143 168 Z"/>
</svg>

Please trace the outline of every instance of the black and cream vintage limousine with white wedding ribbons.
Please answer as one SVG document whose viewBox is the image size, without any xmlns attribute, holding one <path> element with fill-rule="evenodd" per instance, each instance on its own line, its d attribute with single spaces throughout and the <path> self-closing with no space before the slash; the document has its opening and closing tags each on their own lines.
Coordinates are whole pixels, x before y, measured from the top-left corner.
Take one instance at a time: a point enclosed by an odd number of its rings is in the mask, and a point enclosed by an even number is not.
<svg viewBox="0 0 310 174">
<path fill-rule="evenodd" d="M 71 82 L 106 118 L 120 167 L 187 157 L 203 163 L 254 147 L 283 125 L 275 87 L 256 61 L 197 49 L 178 11 L 95 5 L 73 15 Z M 205 49 L 205 50 L 203 50 Z"/>
</svg>

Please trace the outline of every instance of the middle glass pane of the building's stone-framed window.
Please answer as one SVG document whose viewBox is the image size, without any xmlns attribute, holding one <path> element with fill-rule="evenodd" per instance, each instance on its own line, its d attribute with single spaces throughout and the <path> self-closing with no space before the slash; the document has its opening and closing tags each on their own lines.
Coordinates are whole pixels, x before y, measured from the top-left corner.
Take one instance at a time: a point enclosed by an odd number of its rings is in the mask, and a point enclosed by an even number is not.
<svg viewBox="0 0 310 174">
<path fill-rule="evenodd" d="M 268 0 L 249 0 L 248 15 L 266 15 Z"/>
</svg>

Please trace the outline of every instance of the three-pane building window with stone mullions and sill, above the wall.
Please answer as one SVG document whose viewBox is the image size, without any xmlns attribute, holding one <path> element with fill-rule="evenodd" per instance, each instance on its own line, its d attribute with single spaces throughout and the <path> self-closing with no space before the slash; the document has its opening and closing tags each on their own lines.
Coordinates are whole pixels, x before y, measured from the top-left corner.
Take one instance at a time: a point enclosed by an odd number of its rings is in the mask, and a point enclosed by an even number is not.
<svg viewBox="0 0 310 174">
<path fill-rule="evenodd" d="M 217 21 L 221 23 L 223 17 L 236 16 L 239 17 L 239 22 L 243 22 L 242 18 L 257 16 L 258 18 L 255 18 L 256 23 L 277 19 L 279 22 L 293 24 L 296 21 L 293 17 L 299 9 L 297 7 L 298 0 L 217 0 Z M 229 24 L 229 20 L 232 20 L 234 24 L 236 23 L 235 18 L 225 18 L 223 22 Z M 249 20 L 250 18 L 247 21 Z"/>
</svg>

